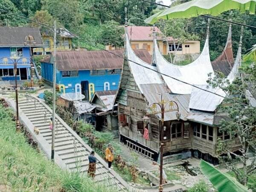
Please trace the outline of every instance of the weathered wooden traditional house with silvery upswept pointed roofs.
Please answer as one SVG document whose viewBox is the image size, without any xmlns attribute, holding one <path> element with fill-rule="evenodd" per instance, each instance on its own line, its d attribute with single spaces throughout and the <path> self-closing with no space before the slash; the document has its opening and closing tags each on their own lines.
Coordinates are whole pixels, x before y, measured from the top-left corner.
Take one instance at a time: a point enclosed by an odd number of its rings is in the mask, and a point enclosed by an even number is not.
<svg viewBox="0 0 256 192">
<path fill-rule="evenodd" d="M 154 35 L 155 36 L 155 35 Z M 242 37 L 242 36 L 241 36 Z M 231 28 L 229 30 L 227 49 L 232 50 Z M 238 138 L 231 139 L 230 134 L 220 133 L 220 120 L 227 118 L 218 113 L 218 105 L 223 98 L 215 94 L 200 90 L 192 85 L 226 96 L 223 90 L 207 87 L 208 74 L 214 74 L 214 69 L 223 68 L 224 60 L 232 62 L 233 54 L 218 58 L 213 64 L 209 57 L 209 28 L 201 55 L 186 66 L 170 64 L 163 58 L 154 38 L 154 52 L 151 64 L 140 60 L 131 48 L 128 30 L 125 33 L 125 60 L 115 102 L 118 104 L 120 141 L 143 153 L 151 159 L 157 160 L 160 153 L 160 114 L 147 115 L 148 107 L 152 103 L 160 103 L 161 95 L 165 102 L 177 103 L 180 120 L 175 112 L 164 114 L 164 162 L 168 163 L 186 157 L 199 157 L 213 164 L 218 163 L 217 139 L 230 140 L 233 151 L 239 148 Z M 228 58 L 228 59 L 226 59 Z M 134 62 L 132 62 L 134 61 Z M 236 60 L 227 74 L 232 82 L 241 64 L 241 39 Z M 212 67 L 212 65 L 216 67 Z M 179 81 L 175 80 L 178 79 Z M 183 82 L 192 84 L 185 84 Z M 143 116 L 150 120 L 144 125 Z M 148 137 L 143 135 L 145 126 Z"/>
</svg>

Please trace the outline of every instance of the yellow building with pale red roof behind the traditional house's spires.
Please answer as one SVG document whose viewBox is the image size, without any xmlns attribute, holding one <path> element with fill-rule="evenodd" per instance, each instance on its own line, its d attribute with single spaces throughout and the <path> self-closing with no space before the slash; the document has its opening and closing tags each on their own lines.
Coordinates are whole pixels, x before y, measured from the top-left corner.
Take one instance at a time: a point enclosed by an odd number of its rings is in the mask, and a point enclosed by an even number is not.
<svg viewBox="0 0 256 192">
<path fill-rule="evenodd" d="M 200 41 L 186 41 L 178 44 L 177 39 L 172 37 L 163 38 L 160 29 L 155 27 L 157 32 L 157 43 L 163 55 L 170 53 L 195 54 L 200 53 Z M 152 26 L 128 26 L 128 36 L 132 49 L 147 49 L 149 54 L 153 53 L 153 27 Z M 107 50 L 114 50 L 115 47 L 106 46 Z"/>
</svg>

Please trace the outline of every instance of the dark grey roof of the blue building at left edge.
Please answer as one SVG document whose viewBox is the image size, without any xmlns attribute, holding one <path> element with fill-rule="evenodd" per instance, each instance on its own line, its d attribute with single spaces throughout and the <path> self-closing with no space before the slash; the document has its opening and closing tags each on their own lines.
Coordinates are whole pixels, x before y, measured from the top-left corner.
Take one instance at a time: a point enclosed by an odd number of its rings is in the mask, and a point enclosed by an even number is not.
<svg viewBox="0 0 256 192">
<path fill-rule="evenodd" d="M 37 47 L 43 44 L 38 27 L 0 27 L 0 47 L 24 47 L 25 38 L 28 35 L 32 35 L 35 38 L 36 44 L 31 44 L 31 47 Z"/>
</svg>

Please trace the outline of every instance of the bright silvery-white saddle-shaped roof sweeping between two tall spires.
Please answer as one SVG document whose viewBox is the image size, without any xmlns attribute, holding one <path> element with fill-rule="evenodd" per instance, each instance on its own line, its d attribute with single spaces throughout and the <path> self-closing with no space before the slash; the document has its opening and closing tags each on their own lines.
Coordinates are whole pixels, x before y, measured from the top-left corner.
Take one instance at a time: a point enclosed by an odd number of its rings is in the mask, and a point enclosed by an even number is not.
<svg viewBox="0 0 256 192">
<path fill-rule="evenodd" d="M 160 73 L 172 76 L 189 84 L 207 84 L 207 80 L 209 79 L 208 74 L 214 73 L 210 61 L 208 38 L 205 41 L 204 49 L 201 52 L 201 55 L 199 55 L 195 61 L 188 65 L 178 66 L 166 61 L 157 47 L 156 39 L 154 39 L 153 54 L 153 62 L 156 63 L 157 69 Z M 162 78 L 172 93 L 190 94 L 192 92 L 191 85 L 177 81 L 165 75 L 162 75 Z"/>
</svg>

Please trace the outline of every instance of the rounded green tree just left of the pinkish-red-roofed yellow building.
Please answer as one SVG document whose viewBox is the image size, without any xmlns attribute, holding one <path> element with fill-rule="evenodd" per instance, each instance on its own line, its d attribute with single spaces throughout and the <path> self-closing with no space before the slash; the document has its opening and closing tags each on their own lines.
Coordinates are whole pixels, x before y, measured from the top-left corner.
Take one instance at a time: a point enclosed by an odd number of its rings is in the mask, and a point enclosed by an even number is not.
<svg viewBox="0 0 256 192">
<path fill-rule="evenodd" d="M 122 47 L 124 45 L 124 27 L 119 26 L 117 22 L 111 20 L 102 25 L 102 43 L 113 47 Z"/>
</svg>

